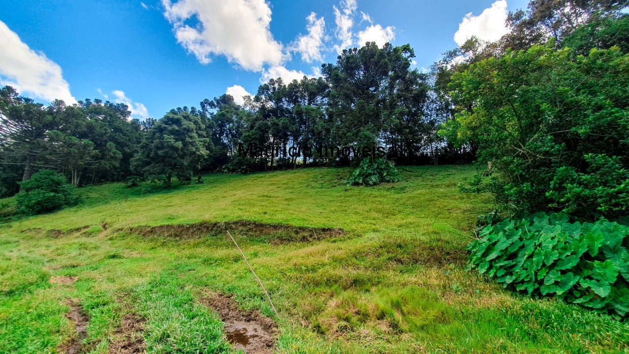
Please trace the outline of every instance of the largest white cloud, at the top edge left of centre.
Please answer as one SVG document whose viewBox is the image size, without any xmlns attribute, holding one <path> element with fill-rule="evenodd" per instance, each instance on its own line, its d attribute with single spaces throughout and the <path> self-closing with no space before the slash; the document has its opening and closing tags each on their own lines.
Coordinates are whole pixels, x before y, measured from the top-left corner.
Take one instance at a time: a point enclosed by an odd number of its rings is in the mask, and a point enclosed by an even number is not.
<svg viewBox="0 0 629 354">
<path fill-rule="evenodd" d="M 162 0 L 164 16 L 177 42 L 207 64 L 210 55 L 225 55 L 243 69 L 281 64 L 282 45 L 269 30 L 271 10 L 264 0 Z M 198 21 L 192 27 L 186 21 Z"/>
</svg>

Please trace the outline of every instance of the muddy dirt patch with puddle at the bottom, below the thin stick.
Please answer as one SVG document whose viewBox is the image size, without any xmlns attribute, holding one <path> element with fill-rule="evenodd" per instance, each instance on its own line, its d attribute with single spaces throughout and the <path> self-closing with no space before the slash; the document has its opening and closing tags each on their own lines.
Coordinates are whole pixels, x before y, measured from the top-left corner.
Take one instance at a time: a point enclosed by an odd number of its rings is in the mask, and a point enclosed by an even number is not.
<svg viewBox="0 0 629 354">
<path fill-rule="evenodd" d="M 225 323 L 225 336 L 236 349 L 247 354 L 273 353 L 277 324 L 258 311 L 242 312 L 231 297 L 210 294 L 201 299 Z"/>
</svg>

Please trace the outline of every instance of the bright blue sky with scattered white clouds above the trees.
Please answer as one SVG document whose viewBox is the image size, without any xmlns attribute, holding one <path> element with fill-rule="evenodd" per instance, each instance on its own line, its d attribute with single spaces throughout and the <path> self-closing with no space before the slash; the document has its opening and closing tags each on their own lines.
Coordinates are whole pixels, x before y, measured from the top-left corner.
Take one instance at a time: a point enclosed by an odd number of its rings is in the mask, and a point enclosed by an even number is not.
<svg viewBox="0 0 629 354">
<path fill-rule="evenodd" d="M 360 40 L 410 43 L 421 70 L 471 35 L 499 38 L 506 11 L 526 3 L 4 0 L 0 84 L 44 103 L 101 98 L 159 118 L 225 92 L 238 101 L 269 77 L 316 76 Z"/>
</svg>

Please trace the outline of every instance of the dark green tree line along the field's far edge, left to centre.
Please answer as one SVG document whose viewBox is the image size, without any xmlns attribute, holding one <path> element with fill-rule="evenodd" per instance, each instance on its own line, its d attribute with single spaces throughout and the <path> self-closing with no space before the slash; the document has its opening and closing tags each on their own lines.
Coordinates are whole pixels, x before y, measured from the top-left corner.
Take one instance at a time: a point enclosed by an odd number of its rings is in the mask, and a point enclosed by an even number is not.
<svg viewBox="0 0 629 354">
<path fill-rule="evenodd" d="M 401 164 L 437 163 L 439 155 L 445 162 L 469 159 L 466 147 L 437 136 L 447 117 L 431 110 L 437 105 L 430 76 L 411 69 L 413 57 L 409 45 L 367 43 L 323 64 L 322 77 L 270 79 L 243 105 L 223 94 L 143 122 L 120 103 L 55 100 L 45 106 L 6 86 L 0 89 L 0 193 L 16 193 L 19 181 L 42 168 L 64 173 L 74 185 L 135 175 L 170 185 L 173 177 L 189 181 L 199 171 L 360 163 L 360 154 L 328 157 L 315 146 L 382 146 Z M 279 153 L 238 156 L 238 144 Z M 287 146 L 313 152 L 288 154 Z"/>
</svg>

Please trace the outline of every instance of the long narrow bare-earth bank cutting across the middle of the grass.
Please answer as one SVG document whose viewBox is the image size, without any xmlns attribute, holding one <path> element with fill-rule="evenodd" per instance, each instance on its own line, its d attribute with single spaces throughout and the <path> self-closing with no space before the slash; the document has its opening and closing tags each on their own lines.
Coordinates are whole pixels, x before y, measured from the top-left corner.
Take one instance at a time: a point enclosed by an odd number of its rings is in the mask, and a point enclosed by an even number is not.
<svg viewBox="0 0 629 354">
<path fill-rule="evenodd" d="M 345 235 L 345 231 L 342 229 L 261 224 L 249 221 L 137 226 L 126 229 L 126 231 L 140 236 L 174 237 L 177 239 L 225 236 L 226 230 L 229 230 L 234 236 L 259 239 L 270 243 L 308 242 Z"/>
</svg>

